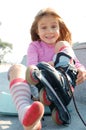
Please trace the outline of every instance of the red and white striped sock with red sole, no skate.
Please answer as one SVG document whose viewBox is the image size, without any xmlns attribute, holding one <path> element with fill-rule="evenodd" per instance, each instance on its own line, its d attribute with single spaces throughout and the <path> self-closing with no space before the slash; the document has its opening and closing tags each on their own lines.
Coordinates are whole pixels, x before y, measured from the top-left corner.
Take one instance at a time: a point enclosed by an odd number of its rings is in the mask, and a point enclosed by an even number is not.
<svg viewBox="0 0 86 130">
<path fill-rule="evenodd" d="M 44 114 L 44 106 L 38 101 L 32 103 L 30 87 L 26 81 L 21 78 L 11 81 L 10 92 L 22 125 L 28 127 L 39 122 Z"/>
</svg>

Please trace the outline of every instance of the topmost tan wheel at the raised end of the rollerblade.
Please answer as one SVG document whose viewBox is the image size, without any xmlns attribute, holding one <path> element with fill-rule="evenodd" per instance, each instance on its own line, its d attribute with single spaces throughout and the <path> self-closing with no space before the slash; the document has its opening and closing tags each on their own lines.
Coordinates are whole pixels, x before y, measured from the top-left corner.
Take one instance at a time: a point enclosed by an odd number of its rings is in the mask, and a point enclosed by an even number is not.
<svg viewBox="0 0 86 130">
<path fill-rule="evenodd" d="M 29 83 L 29 84 L 33 84 L 33 85 L 36 85 L 38 84 L 38 79 L 36 79 L 33 75 L 33 72 L 35 70 L 39 70 L 35 65 L 31 65 L 27 68 L 26 70 L 26 81 Z"/>
</svg>

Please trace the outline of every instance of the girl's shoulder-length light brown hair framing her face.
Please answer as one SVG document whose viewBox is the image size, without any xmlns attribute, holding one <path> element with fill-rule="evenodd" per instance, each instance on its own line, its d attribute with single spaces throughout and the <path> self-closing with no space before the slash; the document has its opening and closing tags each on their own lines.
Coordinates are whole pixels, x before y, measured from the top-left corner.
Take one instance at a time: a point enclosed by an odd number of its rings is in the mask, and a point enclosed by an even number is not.
<svg viewBox="0 0 86 130">
<path fill-rule="evenodd" d="M 33 41 L 40 40 L 40 37 L 37 34 L 38 22 L 40 21 L 40 19 L 42 17 L 47 16 L 47 15 L 54 16 L 59 22 L 60 37 L 58 38 L 58 41 L 68 41 L 71 44 L 72 39 L 71 39 L 71 33 L 70 33 L 69 29 L 67 28 L 67 26 L 64 23 L 63 19 L 56 13 L 55 10 L 53 10 L 51 8 L 42 9 L 35 16 L 35 19 L 34 19 L 34 21 L 32 23 L 31 30 L 30 30 L 31 39 Z"/>
</svg>

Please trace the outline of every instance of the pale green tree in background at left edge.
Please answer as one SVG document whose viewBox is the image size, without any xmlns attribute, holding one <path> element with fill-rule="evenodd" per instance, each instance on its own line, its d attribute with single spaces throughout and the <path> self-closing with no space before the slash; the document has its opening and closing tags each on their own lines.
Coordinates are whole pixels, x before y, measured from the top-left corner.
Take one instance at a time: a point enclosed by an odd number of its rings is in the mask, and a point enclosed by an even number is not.
<svg viewBox="0 0 86 130">
<path fill-rule="evenodd" d="M 0 39 L 0 63 L 4 63 L 4 57 L 6 54 L 11 53 L 13 49 L 12 44 L 7 42 L 2 42 Z"/>
</svg>

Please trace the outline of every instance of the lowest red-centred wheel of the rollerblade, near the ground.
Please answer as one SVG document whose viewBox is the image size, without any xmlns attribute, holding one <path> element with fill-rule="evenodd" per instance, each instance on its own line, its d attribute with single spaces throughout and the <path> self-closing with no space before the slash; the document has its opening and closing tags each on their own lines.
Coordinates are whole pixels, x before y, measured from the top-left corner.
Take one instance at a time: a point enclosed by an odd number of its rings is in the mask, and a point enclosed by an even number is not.
<svg viewBox="0 0 86 130">
<path fill-rule="evenodd" d="M 62 125 L 63 122 L 61 121 L 61 119 L 59 118 L 59 113 L 57 109 L 53 109 L 52 111 L 52 119 L 54 120 L 54 122 L 58 125 Z"/>
</svg>

